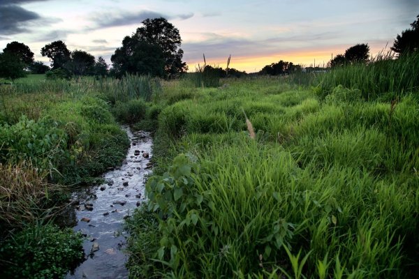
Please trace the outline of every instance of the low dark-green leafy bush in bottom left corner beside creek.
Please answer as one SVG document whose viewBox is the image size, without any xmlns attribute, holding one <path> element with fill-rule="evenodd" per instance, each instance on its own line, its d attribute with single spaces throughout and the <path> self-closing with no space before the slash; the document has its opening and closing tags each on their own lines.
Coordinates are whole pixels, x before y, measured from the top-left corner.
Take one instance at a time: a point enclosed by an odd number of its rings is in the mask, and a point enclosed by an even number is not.
<svg viewBox="0 0 419 279">
<path fill-rule="evenodd" d="M 1 278 L 63 278 L 83 255 L 81 234 L 53 225 L 30 225 L 1 244 Z"/>
</svg>

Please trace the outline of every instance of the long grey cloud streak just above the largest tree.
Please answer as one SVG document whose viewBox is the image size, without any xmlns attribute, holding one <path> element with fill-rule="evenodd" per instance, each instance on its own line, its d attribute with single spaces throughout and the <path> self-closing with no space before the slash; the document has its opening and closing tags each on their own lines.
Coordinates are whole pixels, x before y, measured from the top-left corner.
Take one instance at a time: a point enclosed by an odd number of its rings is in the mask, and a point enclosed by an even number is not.
<svg viewBox="0 0 419 279">
<path fill-rule="evenodd" d="M 120 27 L 125 25 L 131 25 L 131 24 L 140 24 L 143 20 L 147 20 L 147 18 L 158 18 L 158 17 L 164 17 L 167 20 L 173 20 L 173 19 L 181 19 L 181 20 L 187 20 L 191 17 L 193 17 L 193 13 L 187 13 L 183 15 L 164 15 L 162 13 L 157 13 L 152 10 L 142 10 L 137 13 L 128 13 L 128 12 L 119 12 L 116 14 L 110 14 L 110 13 L 101 13 L 96 15 L 94 17 L 93 21 L 96 23 L 95 27 L 91 27 L 90 29 L 101 29 L 101 28 L 107 28 L 107 27 Z"/>
</svg>

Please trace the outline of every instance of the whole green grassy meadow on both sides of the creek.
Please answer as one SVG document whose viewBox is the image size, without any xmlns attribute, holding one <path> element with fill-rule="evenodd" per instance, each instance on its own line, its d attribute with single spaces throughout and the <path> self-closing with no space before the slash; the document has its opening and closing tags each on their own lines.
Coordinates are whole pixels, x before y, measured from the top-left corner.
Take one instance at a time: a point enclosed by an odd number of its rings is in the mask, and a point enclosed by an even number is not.
<svg viewBox="0 0 419 279">
<path fill-rule="evenodd" d="M 418 57 L 1 84 L 0 275 L 61 278 L 80 259 L 54 213 L 122 163 L 128 123 L 154 137 L 148 202 L 126 221 L 130 278 L 415 278 Z"/>
</svg>

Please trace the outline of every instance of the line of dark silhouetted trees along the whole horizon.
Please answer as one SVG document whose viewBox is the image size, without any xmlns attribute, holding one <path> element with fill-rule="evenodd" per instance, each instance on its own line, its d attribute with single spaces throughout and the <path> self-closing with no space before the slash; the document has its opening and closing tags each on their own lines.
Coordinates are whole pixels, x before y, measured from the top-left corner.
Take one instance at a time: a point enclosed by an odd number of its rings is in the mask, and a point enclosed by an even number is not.
<svg viewBox="0 0 419 279">
<path fill-rule="evenodd" d="M 103 57 L 95 57 L 83 50 L 68 50 L 66 43 L 56 40 L 41 49 L 42 56 L 47 56 L 51 68 L 41 61 L 34 61 L 34 53 L 27 45 L 11 42 L 0 53 L 0 77 L 15 80 L 32 73 L 47 73 L 50 77 L 71 77 L 73 75 L 113 75 L 122 77 L 127 73 L 152 75 L 163 78 L 174 78 L 188 70 L 182 61 L 183 50 L 180 48 L 182 39 L 179 30 L 165 18 L 159 17 L 142 21 L 131 36 L 122 40 L 122 47 L 118 47 L 111 56 L 112 68 Z M 399 56 L 419 49 L 419 15 L 411 24 L 410 29 L 397 35 L 391 50 Z M 366 63 L 369 61 L 369 46 L 362 43 L 349 47 L 344 54 L 337 54 L 328 62 L 328 67 L 344 66 L 348 63 Z M 219 77 L 226 77 L 227 72 L 222 68 L 205 66 L 205 72 L 211 72 Z M 279 61 L 263 67 L 262 75 L 287 75 L 302 70 L 302 66 L 292 62 Z M 228 69 L 228 76 L 242 77 L 247 75 L 236 69 Z"/>
</svg>

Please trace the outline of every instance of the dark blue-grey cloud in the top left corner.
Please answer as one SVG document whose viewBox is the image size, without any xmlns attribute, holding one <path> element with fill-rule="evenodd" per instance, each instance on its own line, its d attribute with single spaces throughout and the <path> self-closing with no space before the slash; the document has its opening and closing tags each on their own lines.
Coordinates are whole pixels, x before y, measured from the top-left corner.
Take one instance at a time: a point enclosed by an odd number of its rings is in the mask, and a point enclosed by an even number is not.
<svg viewBox="0 0 419 279">
<path fill-rule="evenodd" d="M 0 34 L 13 35 L 29 31 L 27 22 L 39 20 L 41 16 L 20 6 L 0 6 Z"/>
</svg>

